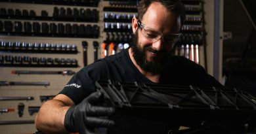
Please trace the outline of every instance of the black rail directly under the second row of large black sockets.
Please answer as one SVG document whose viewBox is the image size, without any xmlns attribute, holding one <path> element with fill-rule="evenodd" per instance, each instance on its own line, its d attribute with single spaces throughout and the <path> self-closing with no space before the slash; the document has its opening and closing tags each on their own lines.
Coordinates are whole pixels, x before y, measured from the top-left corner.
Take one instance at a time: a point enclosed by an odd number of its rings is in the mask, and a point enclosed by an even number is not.
<svg viewBox="0 0 256 134">
<path fill-rule="evenodd" d="M 0 31 L 0 35 L 6 36 L 27 36 L 27 37 L 70 37 L 70 38 L 98 38 L 98 35 L 74 35 L 74 34 L 52 34 L 52 33 L 25 33 Z"/>
</svg>

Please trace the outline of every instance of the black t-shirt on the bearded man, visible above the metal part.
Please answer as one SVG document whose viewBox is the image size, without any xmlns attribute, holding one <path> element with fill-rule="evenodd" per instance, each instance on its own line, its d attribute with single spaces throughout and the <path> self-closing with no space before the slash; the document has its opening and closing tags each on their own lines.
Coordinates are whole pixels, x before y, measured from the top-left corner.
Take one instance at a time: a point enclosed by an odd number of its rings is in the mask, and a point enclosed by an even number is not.
<svg viewBox="0 0 256 134">
<path fill-rule="evenodd" d="M 213 76 L 205 73 L 202 66 L 182 56 L 172 56 L 160 77 L 160 84 L 219 87 Z M 96 80 L 142 82 L 153 84 L 142 75 L 129 57 L 128 48 L 113 56 L 99 59 L 77 72 L 59 94 L 70 97 L 75 104 L 95 92 Z"/>
</svg>

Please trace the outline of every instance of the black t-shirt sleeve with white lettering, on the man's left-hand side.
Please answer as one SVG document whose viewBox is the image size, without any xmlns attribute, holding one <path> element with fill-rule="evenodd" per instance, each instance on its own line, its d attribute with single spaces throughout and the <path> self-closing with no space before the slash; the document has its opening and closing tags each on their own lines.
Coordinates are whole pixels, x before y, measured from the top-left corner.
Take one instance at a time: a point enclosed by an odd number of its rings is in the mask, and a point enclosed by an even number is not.
<svg viewBox="0 0 256 134">
<path fill-rule="evenodd" d="M 103 61 L 96 61 L 80 71 L 70 79 L 68 84 L 58 94 L 64 94 L 74 101 L 75 105 L 80 103 L 85 97 L 96 91 L 96 80 L 107 79 L 106 65 Z"/>
</svg>

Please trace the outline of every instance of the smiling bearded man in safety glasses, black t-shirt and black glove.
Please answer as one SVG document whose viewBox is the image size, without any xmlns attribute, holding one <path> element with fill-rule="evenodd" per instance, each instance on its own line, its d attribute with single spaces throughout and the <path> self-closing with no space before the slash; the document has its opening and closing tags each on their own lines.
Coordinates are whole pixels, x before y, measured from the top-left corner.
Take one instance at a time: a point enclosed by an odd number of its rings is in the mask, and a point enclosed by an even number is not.
<svg viewBox="0 0 256 134">
<path fill-rule="evenodd" d="M 120 116 L 121 124 L 100 118 L 114 114 L 113 107 L 95 106 L 102 94 L 96 92 L 96 80 L 222 86 L 202 66 L 171 51 L 181 35 L 184 5 L 180 0 L 142 0 L 138 16 L 132 20 L 134 40 L 131 47 L 99 59 L 77 72 L 67 86 L 45 102 L 35 118 L 37 129 L 44 133 L 95 133 L 95 127 L 119 126 L 108 133 L 168 133 L 164 122 Z M 77 85 L 77 86 L 72 86 Z M 161 114 L 161 113 L 160 113 Z M 113 127 L 112 127 L 113 128 Z"/>
</svg>

